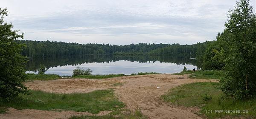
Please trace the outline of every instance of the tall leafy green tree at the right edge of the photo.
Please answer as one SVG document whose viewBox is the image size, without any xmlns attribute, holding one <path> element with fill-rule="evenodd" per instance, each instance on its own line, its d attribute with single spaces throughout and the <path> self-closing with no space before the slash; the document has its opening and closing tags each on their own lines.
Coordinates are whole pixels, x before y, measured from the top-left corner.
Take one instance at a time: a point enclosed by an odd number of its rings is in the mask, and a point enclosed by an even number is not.
<svg viewBox="0 0 256 119">
<path fill-rule="evenodd" d="M 240 0 L 229 11 L 224 30 L 227 51 L 221 90 L 234 99 L 256 96 L 256 15 L 249 0 Z"/>
</svg>

